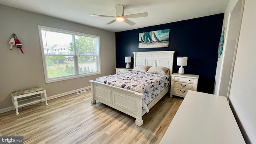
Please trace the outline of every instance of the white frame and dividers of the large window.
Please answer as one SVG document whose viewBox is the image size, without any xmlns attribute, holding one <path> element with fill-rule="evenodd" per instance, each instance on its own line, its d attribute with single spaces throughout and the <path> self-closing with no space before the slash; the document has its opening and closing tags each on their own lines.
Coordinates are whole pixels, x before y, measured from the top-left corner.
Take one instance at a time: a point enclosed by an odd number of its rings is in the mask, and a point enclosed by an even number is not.
<svg viewBox="0 0 256 144">
<path fill-rule="evenodd" d="M 46 64 L 46 56 L 47 55 L 44 54 L 42 30 L 48 30 L 48 31 L 52 31 L 52 32 L 58 32 L 58 33 L 71 34 L 72 35 L 73 48 L 74 48 L 74 54 L 72 54 L 72 55 L 74 56 L 74 67 L 75 67 L 75 69 L 74 69 L 75 74 L 74 75 L 61 76 L 61 77 L 57 77 L 57 78 L 48 78 L 48 71 L 47 71 L 47 64 Z M 81 78 L 81 77 L 93 76 L 93 75 L 96 75 L 96 74 L 101 74 L 100 36 L 96 36 L 96 35 L 92 35 L 92 34 L 85 34 L 85 33 L 80 33 L 80 32 L 74 32 L 74 31 L 70 31 L 70 30 L 63 30 L 63 29 L 58 29 L 58 28 L 51 28 L 51 27 L 47 27 L 47 26 L 40 26 L 40 25 L 38 25 L 38 31 L 39 31 L 39 38 L 40 38 L 40 46 L 41 46 L 41 53 L 42 53 L 42 61 L 43 61 L 43 68 L 44 68 L 45 83 L 58 82 L 58 81 L 62 81 L 62 80 L 70 80 L 70 79 L 74 79 L 74 78 Z M 96 48 L 96 52 L 98 53 L 98 54 L 96 54 L 96 57 L 98 57 L 97 60 L 96 60 L 96 67 L 97 67 L 97 71 L 96 72 L 79 74 L 79 70 L 78 70 L 78 54 L 76 54 L 76 48 L 75 48 L 75 42 L 74 42 L 75 36 L 87 36 L 87 37 L 93 37 L 93 38 L 97 38 L 98 39 L 98 42 L 96 44 L 96 46 L 98 46 L 98 48 Z M 65 54 L 64 55 L 63 54 L 51 54 L 50 56 L 65 56 Z M 80 54 L 80 56 L 86 56 L 86 55 L 81 55 Z"/>
</svg>

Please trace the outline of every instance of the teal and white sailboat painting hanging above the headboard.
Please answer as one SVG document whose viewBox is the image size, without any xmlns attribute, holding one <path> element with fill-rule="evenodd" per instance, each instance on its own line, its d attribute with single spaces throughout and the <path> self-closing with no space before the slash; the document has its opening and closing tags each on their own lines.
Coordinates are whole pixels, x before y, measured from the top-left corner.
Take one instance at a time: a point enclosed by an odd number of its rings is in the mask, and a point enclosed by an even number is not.
<svg viewBox="0 0 256 144">
<path fill-rule="evenodd" d="M 169 47 L 170 29 L 139 33 L 139 48 Z"/>
</svg>

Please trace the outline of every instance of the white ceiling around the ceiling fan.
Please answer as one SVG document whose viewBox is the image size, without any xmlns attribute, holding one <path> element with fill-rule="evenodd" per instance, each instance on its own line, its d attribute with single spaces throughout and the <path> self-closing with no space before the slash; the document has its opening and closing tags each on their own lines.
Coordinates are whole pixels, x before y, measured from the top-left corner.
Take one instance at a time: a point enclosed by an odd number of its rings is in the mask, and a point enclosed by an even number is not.
<svg viewBox="0 0 256 144">
<path fill-rule="evenodd" d="M 229 0 L 0 0 L 0 4 L 77 22 L 96 28 L 120 32 L 209 16 L 225 12 Z M 115 5 L 124 6 L 124 15 L 148 12 L 148 17 L 130 18 L 125 22 L 106 23 L 114 20 L 90 14 L 116 16 Z"/>
</svg>

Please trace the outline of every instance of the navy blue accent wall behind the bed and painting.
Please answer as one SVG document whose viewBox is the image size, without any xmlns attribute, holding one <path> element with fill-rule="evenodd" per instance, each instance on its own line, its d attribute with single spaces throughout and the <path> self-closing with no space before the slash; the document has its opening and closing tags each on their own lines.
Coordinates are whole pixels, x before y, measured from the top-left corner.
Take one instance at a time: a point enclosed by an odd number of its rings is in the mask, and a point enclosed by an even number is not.
<svg viewBox="0 0 256 144">
<path fill-rule="evenodd" d="M 216 14 L 135 30 L 116 32 L 116 67 L 125 67 L 124 56 L 142 51 L 175 51 L 173 73 L 177 73 L 177 57 L 188 57 L 186 74 L 198 74 L 198 91 L 213 93 L 217 66 L 218 44 L 224 14 Z M 168 48 L 138 48 L 138 34 L 170 29 Z M 133 61 L 130 63 L 133 68 Z"/>
</svg>

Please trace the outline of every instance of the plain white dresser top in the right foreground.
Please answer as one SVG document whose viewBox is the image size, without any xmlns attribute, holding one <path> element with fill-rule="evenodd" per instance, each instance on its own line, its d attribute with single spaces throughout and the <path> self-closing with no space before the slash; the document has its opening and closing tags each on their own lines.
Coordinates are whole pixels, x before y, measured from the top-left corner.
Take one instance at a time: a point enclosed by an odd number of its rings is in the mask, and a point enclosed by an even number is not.
<svg viewBox="0 0 256 144">
<path fill-rule="evenodd" d="M 189 90 L 160 144 L 245 144 L 224 96 Z"/>
</svg>

